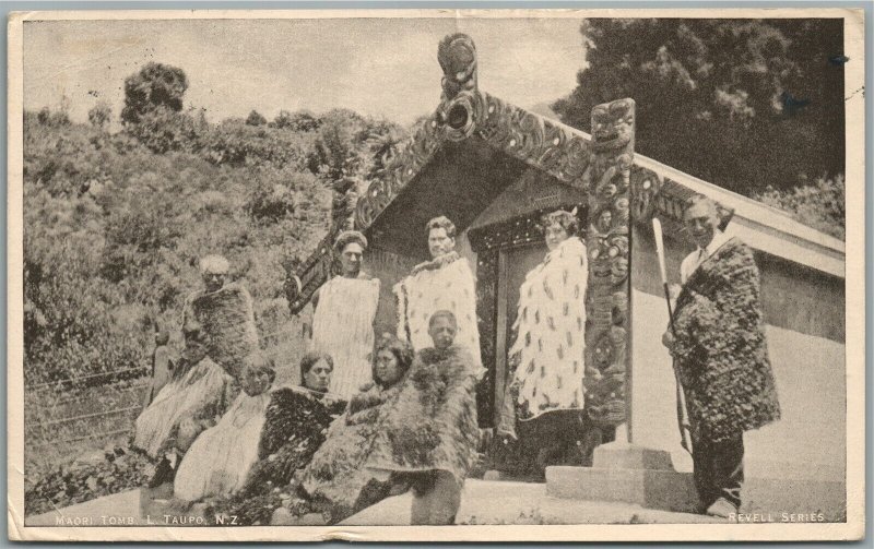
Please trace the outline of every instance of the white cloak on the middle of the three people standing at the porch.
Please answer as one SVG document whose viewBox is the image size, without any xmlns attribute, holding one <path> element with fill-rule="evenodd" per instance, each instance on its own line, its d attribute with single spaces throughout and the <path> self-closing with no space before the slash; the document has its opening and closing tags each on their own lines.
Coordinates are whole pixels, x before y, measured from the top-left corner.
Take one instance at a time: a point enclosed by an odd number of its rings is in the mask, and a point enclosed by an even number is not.
<svg viewBox="0 0 874 549">
<path fill-rule="evenodd" d="M 398 298 L 398 337 L 422 350 L 434 343 L 428 320 L 440 310 L 452 311 L 458 322 L 456 345 L 482 366 L 480 329 L 476 325 L 476 282 L 466 260 L 450 252 L 413 267 L 410 276 L 394 286 Z"/>
</svg>

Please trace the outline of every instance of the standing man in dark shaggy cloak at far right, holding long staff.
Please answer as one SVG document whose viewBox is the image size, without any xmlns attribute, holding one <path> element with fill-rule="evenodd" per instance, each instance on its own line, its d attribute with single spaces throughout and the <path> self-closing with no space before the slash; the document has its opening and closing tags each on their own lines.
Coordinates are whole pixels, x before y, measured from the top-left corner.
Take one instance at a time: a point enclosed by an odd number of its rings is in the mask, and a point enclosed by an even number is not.
<svg viewBox="0 0 874 549">
<path fill-rule="evenodd" d="M 716 203 L 689 199 L 684 222 L 698 249 L 681 265 L 671 350 L 692 423 L 701 510 L 728 517 L 741 506 L 744 431 L 780 418 L 752 250 L 719 228 Z"/>
</svg>

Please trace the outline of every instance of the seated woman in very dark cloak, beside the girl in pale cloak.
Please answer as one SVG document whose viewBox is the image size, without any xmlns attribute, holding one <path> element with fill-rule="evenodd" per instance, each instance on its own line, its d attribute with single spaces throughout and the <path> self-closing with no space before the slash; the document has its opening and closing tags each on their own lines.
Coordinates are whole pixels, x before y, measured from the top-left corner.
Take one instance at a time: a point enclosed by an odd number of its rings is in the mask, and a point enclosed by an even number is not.
<svg viewBox="0 0 874 549">
<path fill-rule="evenodd" d="M 214 514 L 237 517 L 237 524 L 268 524 L 282 503 L 275 488 L 285 487 L 324 442 L 328 426 L 346 407 L 328 393 L 333 373 L 330 355 L 308 353 L 300 361 L 300 386 L 271 393 L 258 443 L 258 462 L 244 487 L 231 498 L 211 502 Z"/>
</svg>

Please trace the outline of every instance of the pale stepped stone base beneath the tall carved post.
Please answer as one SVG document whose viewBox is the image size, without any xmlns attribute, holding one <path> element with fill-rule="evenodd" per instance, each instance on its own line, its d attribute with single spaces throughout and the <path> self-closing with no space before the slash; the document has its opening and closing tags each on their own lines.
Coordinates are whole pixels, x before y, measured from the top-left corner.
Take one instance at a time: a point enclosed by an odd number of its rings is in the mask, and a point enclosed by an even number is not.
<svg viewBox="0 0 874 549">
<path fill-rule="evenodd" d="M 694 513 L 698 503 L 692 474 L 674 469 L 669 452 L 625 441 L 598 446 L 591 467 L 546 467 L 546 493 L 681 513 Z"/>
</svg>

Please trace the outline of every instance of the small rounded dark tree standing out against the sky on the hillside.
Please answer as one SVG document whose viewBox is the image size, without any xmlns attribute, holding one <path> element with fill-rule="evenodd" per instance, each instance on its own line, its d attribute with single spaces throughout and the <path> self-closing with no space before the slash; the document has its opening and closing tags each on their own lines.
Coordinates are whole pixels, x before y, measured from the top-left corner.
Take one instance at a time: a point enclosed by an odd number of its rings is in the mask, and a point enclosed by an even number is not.
<svg viewBox="0 0 874 549">
<path fill-rule="evenodd" d="M 178 112 L 182 110 L 186 89 L 188 79 L 181 69 L 150 62 L 140 72 L 125 79 L 121 121 L 138 123 L 143 115 L 161 109 Z"/>
</svg>

